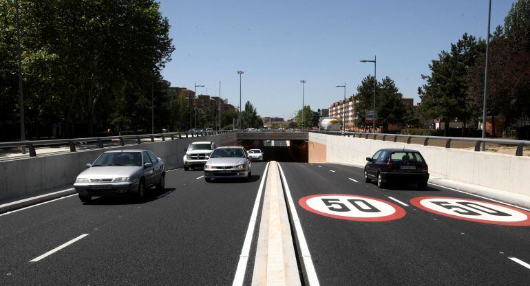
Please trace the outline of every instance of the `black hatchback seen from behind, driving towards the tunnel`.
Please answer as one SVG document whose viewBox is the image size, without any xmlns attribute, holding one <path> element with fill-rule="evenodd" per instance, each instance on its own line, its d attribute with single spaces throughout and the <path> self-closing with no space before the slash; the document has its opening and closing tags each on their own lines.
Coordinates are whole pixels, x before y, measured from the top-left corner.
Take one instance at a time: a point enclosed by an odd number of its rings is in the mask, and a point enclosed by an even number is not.
<svg viewBox="0 0 530 286">
<path fill-rule="evenodd" d="M 376 180 L 379 188 L 392 182 L 416 183 L 418 188 L 427 188 L 429 167 L 416 150 L 381 149 L 366 161 L 364 180 Z"/>
</svg>

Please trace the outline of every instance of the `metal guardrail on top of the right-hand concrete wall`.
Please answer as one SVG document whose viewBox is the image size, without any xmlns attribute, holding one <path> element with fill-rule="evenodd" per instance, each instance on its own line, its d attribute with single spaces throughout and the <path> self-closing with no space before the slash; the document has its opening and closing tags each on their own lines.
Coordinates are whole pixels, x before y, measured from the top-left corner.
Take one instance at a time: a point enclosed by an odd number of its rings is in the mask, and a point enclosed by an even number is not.
<svg viewBox="0 0 530 286">
<path fill-rule="evenodd" d="M 377 140 L 378 137 L 382 141 L 386 140 L 388 137 L 392 138 L 393 142 L 397 142 L 398 137 L 407 138 L 407 144 L 410 144 L 412 138 L 421 138 L 423 139 L 423 146 L 429 146 L 429 140 L 445 140 L 445 148 L 451 148 L 452 141 L 468 141 L 476 142 L 475 151 L 480 152 L 480 145 L 483 143 L 494 143 L 494 144 L 507 144 L 507 145 L 517 145 L 516 156 L 522 156 L 522 148 L 524 145 L 530 145 L 530 141 L 524 140 L 507 140 L 507 139 L 494 139 L 494 138 L 473 138 L 473 137 L 442 137 L 442 136 L 423 136 L 423 135 L 402 135 L 402 134 L 384 134 L 384 133 L 364 133 L 364 132 L 349 132 L 349 131 L 310 131 L 313 133 L 322 133 L 329 135 L 339 135 L 339 136 L 352 136 L 368 139 L 368 137 L 373 136 L 373 140 Z"/>
</svg>

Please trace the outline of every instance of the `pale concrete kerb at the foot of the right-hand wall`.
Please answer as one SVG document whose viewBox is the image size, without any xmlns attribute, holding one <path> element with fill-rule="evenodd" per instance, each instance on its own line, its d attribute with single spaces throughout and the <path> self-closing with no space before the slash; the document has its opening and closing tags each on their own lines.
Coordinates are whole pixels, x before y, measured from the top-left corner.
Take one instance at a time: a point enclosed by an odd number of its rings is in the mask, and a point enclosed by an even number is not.
<svg viewBox="0 0 530 286">
<path fill-rule="evenodd" d="M 339 164 L 343 166 L 364 168 L 363 164 L 348 164 L 341 162 L 328 162 L 326 164 Z M 520 195 L 513 192 L 506 192 L 504 190 L 496 190 L 494 188 L 486 188 L 474 184 L 463 183 L 461 181 L 433 176 L 429 178 L 429 183 L 442 186 L 443 188 L 452 188 L 463 192 L 469 192 L 470 194 L 487 197 L 489 199 L 496 199 L 505 203 L 511 203 L 515 206 L 521 206 L 522 208 L 530 208 L 530 197 L 526 195 Z"/>
</svg>

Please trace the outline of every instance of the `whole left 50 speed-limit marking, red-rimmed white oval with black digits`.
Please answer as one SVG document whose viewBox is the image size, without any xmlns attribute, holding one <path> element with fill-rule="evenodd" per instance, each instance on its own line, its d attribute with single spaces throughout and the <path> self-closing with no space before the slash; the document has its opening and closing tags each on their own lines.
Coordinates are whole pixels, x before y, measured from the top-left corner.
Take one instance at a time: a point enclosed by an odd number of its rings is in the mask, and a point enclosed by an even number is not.
<svg viewBox="0 0 530 286">
<path fill-rule="evenodd" d="M 359 195 L 321 194 L 302 197 L 299 205 L 315 214 L 349 221 L 392 221 L 405 210 L 389 201 Z"/>
</svg>

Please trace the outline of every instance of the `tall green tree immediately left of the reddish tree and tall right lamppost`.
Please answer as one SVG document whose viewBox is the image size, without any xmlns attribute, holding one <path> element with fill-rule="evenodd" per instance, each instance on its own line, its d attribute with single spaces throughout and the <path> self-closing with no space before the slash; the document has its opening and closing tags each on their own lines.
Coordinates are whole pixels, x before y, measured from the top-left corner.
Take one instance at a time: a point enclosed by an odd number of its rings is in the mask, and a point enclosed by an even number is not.
<svg viewBox="0 0 530 286">
<path fill-rule="evenodd" d="M 466 33 L 456 44 L 451 44 L 450 52 L 442 51 L 437 60 L 432 60 L 430 75 L 422 75 L 426 83 L 418 88 L 421 113 L 424 118 L 442 120 L 446 136 L 450 120 L 460 117 L 466 122 L 473 110 L 467 96 L 465 76 L 484 50 L 483 41 Z"/>
</svg>

